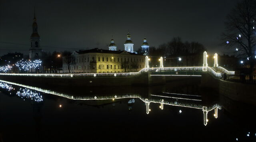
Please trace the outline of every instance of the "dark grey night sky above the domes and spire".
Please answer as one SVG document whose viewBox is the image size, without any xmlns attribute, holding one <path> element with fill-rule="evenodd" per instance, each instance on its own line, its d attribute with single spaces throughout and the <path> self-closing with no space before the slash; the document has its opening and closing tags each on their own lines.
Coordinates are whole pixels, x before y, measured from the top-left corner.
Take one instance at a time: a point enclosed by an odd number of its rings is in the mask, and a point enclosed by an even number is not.
<svg viewBox="0 0 256 142">
<path fill-rule="evenodd" d="M 236 0 L 1 0 L 0 55 L 28 54 L 36 7 L 38 32 L 44 51 L 107 49 L 112 35 L 124 50 L 128 29 L 134 50 L 146 36 L 158 47 L 180 36 L 197 41 L 209 52 L 219 46 L 226 15 Z M 15 43 L 7 44 L 3 42 Z"/>
</svg>

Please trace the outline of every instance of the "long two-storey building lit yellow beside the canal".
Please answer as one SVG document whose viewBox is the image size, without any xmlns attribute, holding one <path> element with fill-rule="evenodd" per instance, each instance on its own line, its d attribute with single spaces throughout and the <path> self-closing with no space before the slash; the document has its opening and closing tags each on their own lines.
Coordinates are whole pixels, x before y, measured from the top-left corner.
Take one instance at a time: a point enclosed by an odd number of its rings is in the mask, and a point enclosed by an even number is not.
<svg viewBox="0 0 256 142">
<path fill-rule="evenodd" d="M 145 56 L 120 50 L 94 48 L 63 57 L 64 73 L 138 72 L 144 67 Z"/>
</svg>

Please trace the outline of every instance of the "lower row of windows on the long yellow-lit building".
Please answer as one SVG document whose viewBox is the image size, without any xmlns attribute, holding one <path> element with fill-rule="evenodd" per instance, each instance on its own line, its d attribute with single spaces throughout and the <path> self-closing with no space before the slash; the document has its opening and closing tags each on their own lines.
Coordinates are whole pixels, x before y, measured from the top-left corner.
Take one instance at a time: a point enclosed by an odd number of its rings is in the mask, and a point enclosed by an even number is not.
<svg viewBox="0 0 256 142">
<path fill-rule="evenodd" d="M 91 66 L 91 67 L 90 67 Z M 104 65 L 98 65 L 98 69 L 123 69 L 123 68 L 125 68 L 125 67 L 127 67 L 127 68 L 139 68 L 139 66 L 138 65 L 136 65 L 136 66 L 121 66 L 121 65 L 118 65 L 118 66 L 116 66 L 116 65 L 114 65 L 114 66 L 112 66 L 112 65 L 106 65 L 106 68 L 105 68 L 105 66 Z M 87 66 L 87 69 L 95 69 L 95 65 L 88 65 Z M 140 68 L 142 68 L 142 66 L 140 65 Z M 83 70 L 83 69 L 86 69 L 86 65 L 84 65 L 84 66 L 69 66 L 69 69 L 70 70 Z M 64 70 L 68 70 L 68 66 L 64 66 Z"/>
</svg>

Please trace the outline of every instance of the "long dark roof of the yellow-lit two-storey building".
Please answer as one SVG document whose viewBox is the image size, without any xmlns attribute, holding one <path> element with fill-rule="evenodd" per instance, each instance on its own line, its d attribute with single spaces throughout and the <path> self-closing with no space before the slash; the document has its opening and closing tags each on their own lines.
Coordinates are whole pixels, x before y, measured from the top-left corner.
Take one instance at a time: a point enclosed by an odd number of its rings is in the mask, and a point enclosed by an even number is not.
<svg viewBox="0 0 256 142">
<path fill-rule="evenodd" d="M 130 54 L 130 55 L 140 55 L 143 56 L 141 54 L 135 54 L 135 53 L 130 53 L 127 51 L 113 51 L 113 50 L 104 50 L 104 49 L 98 49 L 98 48 L 94 48 L 94 49 L 90 49 L 90 50 L 82 50 L 82 51 L 76 51 L 78 54 L 86 54 L 86 53 L 108 53 L 108 54 Z"/>
</svg>

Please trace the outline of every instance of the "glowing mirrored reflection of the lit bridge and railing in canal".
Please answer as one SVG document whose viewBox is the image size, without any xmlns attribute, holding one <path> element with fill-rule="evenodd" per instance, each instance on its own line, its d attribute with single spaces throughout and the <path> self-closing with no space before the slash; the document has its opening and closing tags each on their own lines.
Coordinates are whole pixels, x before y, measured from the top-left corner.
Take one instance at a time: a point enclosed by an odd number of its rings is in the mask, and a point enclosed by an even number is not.
<svg viewBox="0 0 256 142">
<path fill-rule="evenodd" d="M 52 91 L 52 90 L 46 90 L 46 89 L 33 87 L 33 86 L 27 86 L 27 85 L 23 85 L 23 84 L 17 84 L 14 82 L 8 82 L 8 81 L 4 81 L 4 80 L 0 80 L 0 82 L 6 83 L 2 88 L 8 89 L 8 91 L 13 90 L 13 89 L 11 89 L 12 86 L 9 84 L 24 87 L 25 90 L 30 89 L 29 93 L 26 93 L 26 91 L 25 91 L 25 94 L 23 94 L 22 96 L 19 95 L 20 94 L 19 90 L 17 90 L 18 92 L 16 94 L 20 97 L 26 97 L 26 98 L 30 98 L 30 99 L 33 98 L 36 102 L 43 101 L 43 99 L 42 99 L 42 96 L 40 95 L 40 93 L 32 91 L 32 90 L 36 90 L 36 91 L 47 93 L 47 94 L 53 94 L 56 96 L 61 96 L 61 97 L 72 99 L 72 100 L 114 100 L 114 99 L 122 99 L 122 98 L 139 98 L 146 104 L 146 114 L 149 114 L 149 112 L 150 112 L 150 103 L 160 104 L 160 109 L 162 109 L 162 110 L 164 109 L 164 105 L 201 109 L 204 114 L 204 125 L 206 125 L 208 122 L 208 118 L 207 118 L 208 112 L 210 112 L 211 110 L 214 110 L 215 111 L 214 116 L 215 116 L 215 118 L 217 118 L 218 117 L 218 109 L 222 108 L 219 104 L 213 104 L 210 106 L 203 105 L 202 100 L 200 99 L 201 96 L 199 96 L 199 95 L 173 94 L 173 93 L 166 93 L 166 92 L 164 93 L 163 92 L 161 94 L 151 94 L 147 98 L 141 96 L 140 94 L 113 94 L 113 95 L 109 95 L 109 96 L 72 96 L 70 94 L 58 93 L 58 92 Z M 36 95 L 39 95 L 39 96 L 36 96 Z"/>
</svg>

